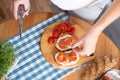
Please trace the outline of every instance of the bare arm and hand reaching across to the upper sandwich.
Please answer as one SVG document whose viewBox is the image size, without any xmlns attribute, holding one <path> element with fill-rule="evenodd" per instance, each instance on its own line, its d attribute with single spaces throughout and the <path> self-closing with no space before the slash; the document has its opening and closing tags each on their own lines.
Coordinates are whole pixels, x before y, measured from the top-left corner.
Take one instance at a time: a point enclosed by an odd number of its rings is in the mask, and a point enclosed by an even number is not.
<svg viewBox="0 0 120 80">
<path fill-rule="evenodd" d="M 120 16 L 120 0 L 114 0 L 107 11 L 92 26 L 92 28 L 72 48 L 81 56 L 90 55 L 95 51 L 100 33 Z M 79 48 L 81 46 L 82 48 Z"/>
</svg>

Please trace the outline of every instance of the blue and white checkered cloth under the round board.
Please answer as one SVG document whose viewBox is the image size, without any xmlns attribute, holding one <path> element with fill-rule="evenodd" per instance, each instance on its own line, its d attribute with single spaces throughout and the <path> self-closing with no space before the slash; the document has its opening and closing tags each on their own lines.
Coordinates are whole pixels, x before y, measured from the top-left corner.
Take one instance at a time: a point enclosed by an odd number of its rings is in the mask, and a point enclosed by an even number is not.
<svg viewBox="0 0 120 80">
<path fill-rule="evenodd" d="M 15 68 L 7 74 L 9 80 L 60 80 L 78 69 L 56 68 L 44 59 L 40 51 L 40 38 L 43 31 L 52 23 L 61 20 L 69 21 L 65 12 L 56 14 L 25 30 L 22 38 L 17 34 L 7 40 L 13 44 L 18 59 Z"/>
</svg>

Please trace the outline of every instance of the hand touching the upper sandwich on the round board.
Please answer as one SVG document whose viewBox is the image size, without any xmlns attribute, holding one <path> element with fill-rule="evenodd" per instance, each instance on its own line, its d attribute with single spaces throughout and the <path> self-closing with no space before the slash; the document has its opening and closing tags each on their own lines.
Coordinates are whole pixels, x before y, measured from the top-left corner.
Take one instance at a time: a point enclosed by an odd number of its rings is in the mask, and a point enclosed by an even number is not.
<svg viewBox="0 0 120 80">
<path fill-rule="evenodd" d="M 81 56 L 89 56 L 95 51 L 98 36 L 98 33 L 96 34 L 92 31 L 89 31 L 74 45 L 72 45 L 73 50 L 76 53 L 79 53 Z"/>
</svg>

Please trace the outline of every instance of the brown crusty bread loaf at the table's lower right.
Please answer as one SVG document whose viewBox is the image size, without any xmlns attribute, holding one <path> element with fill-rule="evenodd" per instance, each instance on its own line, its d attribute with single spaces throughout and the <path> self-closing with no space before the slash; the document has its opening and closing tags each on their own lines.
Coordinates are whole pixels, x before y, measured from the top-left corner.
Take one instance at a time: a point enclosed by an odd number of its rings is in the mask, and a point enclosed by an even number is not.
<svg viewBox="0 0 120 80">
<path fill-rule="evenodd" d="M 80 80 L 96 80 L 111 69 L 117 61 L 117 57 L 112 54 L 96 58 L 82 70 Z"/>
</svg>

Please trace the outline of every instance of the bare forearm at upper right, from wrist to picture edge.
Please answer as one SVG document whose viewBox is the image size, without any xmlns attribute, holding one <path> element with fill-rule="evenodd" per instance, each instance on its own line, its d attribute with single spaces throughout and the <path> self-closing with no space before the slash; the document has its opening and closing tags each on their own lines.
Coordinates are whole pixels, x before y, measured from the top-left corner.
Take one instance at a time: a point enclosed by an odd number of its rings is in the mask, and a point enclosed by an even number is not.
<svg viewBox="0 0 120 80">
<path fill-rule="evenodd" d="M 114 0 L 107 11 L 93 25 L 91 30 L 96 30 L 96 32 L 100 34 L 106 27 L 108 27 L 110 23 L 112 23 L 118 17 L 120 17 L 120 0 Z"/>
</svg>

